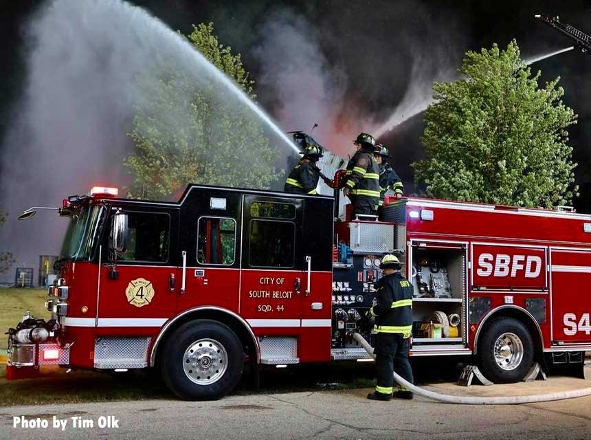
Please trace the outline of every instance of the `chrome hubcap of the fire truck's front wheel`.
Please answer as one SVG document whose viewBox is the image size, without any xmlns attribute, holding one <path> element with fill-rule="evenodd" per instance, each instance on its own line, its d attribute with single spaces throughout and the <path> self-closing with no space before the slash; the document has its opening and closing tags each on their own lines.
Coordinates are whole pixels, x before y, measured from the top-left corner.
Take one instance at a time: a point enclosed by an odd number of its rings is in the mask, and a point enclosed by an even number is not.
<svg viewBox="0 0 591 440">
<path fill-rule="evenodd" d="M 185 350 L 183 369 L 191 382 L 209 385 L 220 380 L 227 369 L 227 352 L 214 339 L 200 339 Z"/>
</svg>

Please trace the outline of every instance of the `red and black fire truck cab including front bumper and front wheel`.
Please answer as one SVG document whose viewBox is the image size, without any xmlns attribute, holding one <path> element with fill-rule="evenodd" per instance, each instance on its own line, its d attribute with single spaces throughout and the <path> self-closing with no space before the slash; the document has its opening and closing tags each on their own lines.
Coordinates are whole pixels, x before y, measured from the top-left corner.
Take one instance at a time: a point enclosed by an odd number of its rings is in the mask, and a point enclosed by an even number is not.
<svg viewBox="0 0 591 440">
<path fill-rule="evenodd" d="M 52 320 L 12 331 L 9 377 L 150 366 L 181 397 L 221 397 L 245 360 L 331 360 L 332 197 L 190 186 L 167 203 L 98 188 L 60 214 Z"/>
</svg>

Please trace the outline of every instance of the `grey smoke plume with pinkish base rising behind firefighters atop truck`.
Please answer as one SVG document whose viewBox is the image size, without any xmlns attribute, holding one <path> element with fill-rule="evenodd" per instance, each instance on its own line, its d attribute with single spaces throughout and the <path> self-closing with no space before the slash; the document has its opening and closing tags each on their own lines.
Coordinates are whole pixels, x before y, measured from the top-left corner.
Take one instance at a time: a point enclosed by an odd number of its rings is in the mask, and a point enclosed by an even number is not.
<svg viewBox="0 0 591 440">
<path fill-rule="evenodd" d="M 307 133 L 318 124 L 313 136 L 331 151 L 346 153 L 364 122 L 355 111 L 350 118 L 342 114 L 347 75 L 324 56 L 320 30 L 293 10 L 280 9 L 269 14 L 260 37 L 253 50 L 260 63 L 258 91 L 272 97 L 267 104 L 276 118 L 286 129 Z"/>
</svg>

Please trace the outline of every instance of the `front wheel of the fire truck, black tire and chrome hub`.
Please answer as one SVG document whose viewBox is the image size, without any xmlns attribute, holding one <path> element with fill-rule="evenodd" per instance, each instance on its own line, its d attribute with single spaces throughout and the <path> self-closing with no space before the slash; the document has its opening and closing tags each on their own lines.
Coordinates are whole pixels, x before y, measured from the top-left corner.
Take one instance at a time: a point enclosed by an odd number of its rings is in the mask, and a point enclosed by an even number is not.
<svg viewBox="0 0 591 440">
<path fill-rule="evenodd" d="M 227 325 L 198 320 L 170 335 L 160 364 L 164 382 L 181 399 L 220 399 L 240 381 L 244 354 Z"/>
</svg>

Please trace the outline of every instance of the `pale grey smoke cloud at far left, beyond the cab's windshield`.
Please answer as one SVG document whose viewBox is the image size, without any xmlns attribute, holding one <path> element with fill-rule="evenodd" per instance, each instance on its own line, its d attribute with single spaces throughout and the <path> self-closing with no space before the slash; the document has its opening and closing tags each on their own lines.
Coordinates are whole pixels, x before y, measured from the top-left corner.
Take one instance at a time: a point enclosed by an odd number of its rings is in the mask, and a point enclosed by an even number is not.
<svg viewBox="0 0 591 440">
<path fill-rule="evenodd" d="M 18 222 L 20 212 L 58 206 L 93 184 L 124 182 L 122 168 L 113 164 L 129 151 L 129 86 L 141 64 L 130 56 L 129 45 L 115 38 L 137 38 L 111 11 L 91 6 L 52 3 L 24 29 L 29 51 L 25 93 L 0 160 L 1 205 L 11 213 L 0 228 L 0 242 L 10 243 L 26 267 L 36 266 L 38 254 L 56 254 L 66 221 L 40 212 L 34 220 Z M 32 221 L 43 225 L 38 233 L 31 233 Z"/>
</svg>

